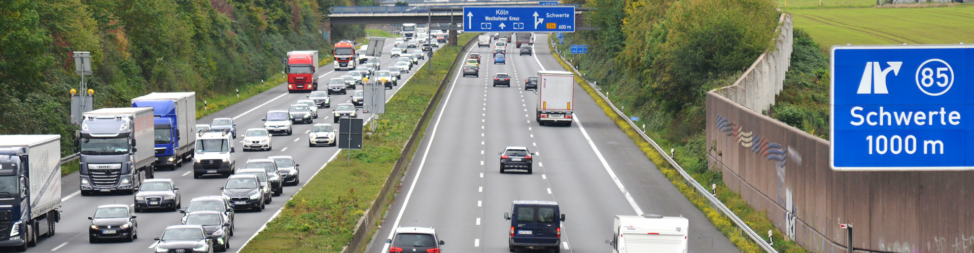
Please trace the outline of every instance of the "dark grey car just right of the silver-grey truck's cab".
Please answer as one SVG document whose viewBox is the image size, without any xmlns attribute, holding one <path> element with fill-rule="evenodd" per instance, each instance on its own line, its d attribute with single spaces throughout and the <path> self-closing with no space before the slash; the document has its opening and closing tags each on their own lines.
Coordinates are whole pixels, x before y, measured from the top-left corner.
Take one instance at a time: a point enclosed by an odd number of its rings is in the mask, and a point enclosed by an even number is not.
<svg viewBox="0 0 974 253">
<path fill-rule="evenodd" d="M 182 208 L 179 188 L 169 178 L 146 179 L 135 194 L 135 212 L 147 209 L 175 211 Z"/>
</svg>

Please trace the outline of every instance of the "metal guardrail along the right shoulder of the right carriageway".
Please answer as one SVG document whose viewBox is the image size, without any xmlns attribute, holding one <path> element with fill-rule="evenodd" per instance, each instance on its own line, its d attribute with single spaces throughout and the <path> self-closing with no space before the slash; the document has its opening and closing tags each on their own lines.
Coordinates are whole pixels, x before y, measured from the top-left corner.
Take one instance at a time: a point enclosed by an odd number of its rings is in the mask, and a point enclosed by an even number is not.
<svg viewBox="0 0 974 253">
<path fill-rule="evenodd" d="M 668 155 L 666 155 L 666 151 L 664 151 L 661 147 L 659 147 L 659 144 L 656 144 L 656 141 L 654 141 L 653 138 L 647 136 L 646 133 L 644 133 L 639 127 L 637 127 L 635 123 L 630 121 L 629 118 L 625 116 L 625 113 L 622 113 L 622 111 L 618 110 L 616 104 L 610 101 L 609 97 L 603 94 L 598 88 L 598 86 L 592 84 L 591 82 L 588 82 L 588 80 L 585 80 L 585 78 L 581 75 L 581 72 L 579 72 L 579 70 L 575 68 L 575 65 L 573 65 L 570 61 L 568 61 L 568 59 L 565 59 L 565 57 L 561 55 L 560 51 L 556 50 L 554 41 L 551 38 L 553 38 L 553 36 L 548 37 L 548 45 L 551 47 L 551 50 L 555 51 L 558 57 L 560 57 L 562 61 L 568 64 L 572 68 L 572 71 L 575 72 L 575 74 L 578 77 L 580 77 L 581 80 L 585 81 L 585 84 L 588 84 L 588 86 L 591 87 L 592 90 L 595 90 L 595 93 L 598 93 L 599 96 L 602 97 L 602 100 L 604 100 L 606 104 L 609 104 L 609 106 L 612 107 L 612 110 L 616 112 L 616 114 L 618 114 L 619 118 L 622 118 L 622 120 L 624 120 L 626 123 L 629 124 L 629 127 L 632 127 L 632 129 L 636 130 L 636 132 L 638 132 L 639 135 L 642 136 L 644 140 L 646 140 L 646 142 L 652 144 L 653 148 L 656 149 L 656 152 L 659 152 L 659 154 L 662 155 L 663 159 L 665 159 L 667 163 L 670 163 L 670 165 L 672 165 L 673 168 L 676 168 L 676 170 L 680 172 L 680 175 L 683 176 L 683 179 L 686 180 L 688 183 L 690 183 L 691 186 L 693 186 L 693 189 L 696 190 L 697 194 L 702 196 L 704 199 L 710 201 L 711 206 L 714 206 L 714 208 L 717 208 L 717 210 L 720 211 L 721 214 L 724 214 L 724 216 L 730 218 L 731 222 L 733 222 L 734 225 L 737 226 L 737 228 L 743 231 L 744 234 L 750 237 L 751 240 L 753 240 L 755 243 L 758 243 L 758 246 L 760 246 L 762 249 L 764 249 L 768 253 L 778 252 L 773 247 L 771 247 L 771 245 L 768 244 L 768 241 L 765 241 L 765 239 L 762 238 L 761 235 L 758 235 L 758 233 L 754 232 L 754 230 L 752 230 L 751 227 L 747 226 L 747 224 L 744 223 L 743 220 L 737 217 L 737 215 L 734 214 L 733 211 L 731 211 L 731 208 L 728 208 L 727 205 L 724 204 L 724 202 L 721 202 L 720 199 L 717 199 L 717 197 L 714 197 L 710 192 L 707 192 L 707 189 L 701 186 L 700 183 L 696 182 L 696 180 L 693 179 L 693 177 L 690 176 L 690 174 L 687 173 L 687 171 L 684 170 L 679 163 L 676 163 L 676 161 L 674 161 L 673 158 L 670 158 Z"/>
</svg>

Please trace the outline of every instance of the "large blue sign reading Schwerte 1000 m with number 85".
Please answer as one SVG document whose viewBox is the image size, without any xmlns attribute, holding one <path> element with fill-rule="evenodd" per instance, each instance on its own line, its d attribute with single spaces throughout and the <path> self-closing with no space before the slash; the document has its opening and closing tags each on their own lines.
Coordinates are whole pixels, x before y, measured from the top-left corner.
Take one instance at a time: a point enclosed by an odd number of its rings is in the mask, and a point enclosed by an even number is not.
<svg viewBox="0 0 974 253">
<path fill-rule="evenodd" d="M 831 59 L 833 169 L 974 169 L 974 45 L 836 46 Z"/>
</svg>

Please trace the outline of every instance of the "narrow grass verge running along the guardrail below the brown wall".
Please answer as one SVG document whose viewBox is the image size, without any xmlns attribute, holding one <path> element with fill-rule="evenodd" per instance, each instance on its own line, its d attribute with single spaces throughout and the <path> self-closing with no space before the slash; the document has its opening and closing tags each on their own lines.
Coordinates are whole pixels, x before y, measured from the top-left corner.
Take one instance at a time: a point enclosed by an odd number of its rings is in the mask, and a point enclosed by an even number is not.
<svg viewBox="0 0 974 253">
<path fill-rule="evenodd" d="M 551 54 L 557 55 L 557 53 L 554 51 L 552 51 Z M 560 57 L 555 56 L 554 58 L 565 69 L 568 70 L 572 69 L 568 64 L 562 61 Z M 612 107 L 610 107 L 609 104 L 606 103 L 606 101 L 603 100 L 602 97 L 596 93 L 597 92 L 596 90 L 592 89 L 587 84 L 585 84 L 585 81 L 581 79 L 581 77 L 576 76 L 576 81 L 581 84 L 582 89 L 584 89 L 589 95 L 592 96 L 593 99 L 595 99 L 595 102 L 599 105 L 599 107 L 602 107 L 602 110 L 606 113 L 606 115 L 612 118 L 613 122 L 616 123 L 616 126 L 618 126 L 619 129 L 621 129 L 623 132 L 625 132 L 625 134 L 632 139 L 632 141 L 636 144 L 636 146 L 638 146 L 639 149 L 642 150 L 644 154 L 646 154 L 646 157 L 649 158 L 651 161 L 653 161 L 653 163 L 656 163 L 656 167 L 659 168 L 659 170 L 663 173 L 663 175 L 666 175 L 666 178 L 670 180 L 670 183 L 672 183 L 673 186 L 676 186 L 676 188 L 680 191 L 680 193 L 682 193 L 684 197 L 689 199 L 693 203 L 693 205 L 696 206 L 696 208 L 699 209 L 700 212 L 702 212 L 704 216 L 707 217 L 708 220 L 710 220 L 710 223 L 713 224 L 714 227 L 717 228 L 717 230 L 721 231 L 721 233 L 728 236 L 728 238 L 731 240 L 731 243 L 737 246 L 737 248 L 740 249 L 740 251 L 742 252 L 763 252 L 763 250 L 761 250 L 761 248 L 758 246 L 757 243 L 752 241 L 747 235 L 744 235 L 743 232 L 741 232 L 731 222 L 731 219 L 724 216 L 716 208 L 711 206 L 710 202 L 707 199 L 701 197 L 696 192 L 696 190 L 694 190 L 693 187 L 690 186 L 689 183 L 687 183 L 684 180 L 683 176 L 680 175 L 680 172 L 678 172 L 676 168 L 670 165 L 670 163 L 668 163 L 665 159 L 662 158 L 662 156 L 658 152 L 656 152 L 656 149 L 653 147 L 652 144 L 650 144 L 645 139 L 643 139 L 643 137 L 639 135 L 639 133 L 636 132 L 635 129 L 630 127 L 628 123 L 626 123 L 621 117 L 619 117 L 618 114 L 616 114 L 616 112 L 612 109 Z M 651 134 L 651 132 L 647 132 L 647 135 L 653 137 L 653 139 L 657 142 L 656 144 L 660 145 L 661 147 L 670 146 L 669 143 L 660 142 L 660 140 L 663 141 L 665 140 L 663 138 L 659 138 L 658 136 L 654 136 L 655 134 Z M 690 154 L 690 153 L 684 153 L 684 154 Z M 677 157 L 678 158 L 675 158 L 677 163 L 682 163 L 679 156 Z M 690 173 L 690 175 L 693 176 L 694 180 L 696 180 L 697 182 L 714 181 L 712 180 L 712 178 L 709 178 L 712 177 L 711 174 L 693 173 L 693 171 L 688 171 L 688 173 Z M 768 230 L 772 231 L 774 236 L 773 247 L 776 250 L 778 250 L 779 252 L 794 252 L 794 253 L 808 252 L 807 250 L 805 250 L 805 248 L 796 244 L 794 241 L 785 239 L 786 237 L 780 231 L 774 228 L 771 221 L 768 220 L 767 212 L 759 212 L 755 210 L 747 203 L 747 201 L 741 198 L 739 194 L 731 191 L 726 185 L 724 185 L 723 181 L 721 180 L 716 180 L 716 181 L 717 182 L 715 182 L 715 184 L 717 184 L 717 198 L 721 199 L 721 201 L 723 201 L 724 204 L 727 205 L 728 208 L 730 208 L 731 211 L 733 211 L 734 214 L 737 215 L 737 217 L 739 217 L 749 227 L 751 227 L 752 230 L 758 232 L 758 235 L 762 235 L 763 238 L 767 239 L 767 237 L 764 236 L 767 235 L 767 233 L 765 232 L 767 232 Z"/>
</svg>

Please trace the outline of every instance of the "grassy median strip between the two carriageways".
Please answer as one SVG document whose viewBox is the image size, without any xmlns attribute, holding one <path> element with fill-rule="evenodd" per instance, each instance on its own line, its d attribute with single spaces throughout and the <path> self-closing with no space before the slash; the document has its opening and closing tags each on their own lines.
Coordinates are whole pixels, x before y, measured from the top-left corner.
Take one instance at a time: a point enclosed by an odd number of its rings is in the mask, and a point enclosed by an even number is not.
<svg viewBox="0 0 974 253">
<path fill-rule="evenodd" d="M 374 133 L 363 137 L 362 150 L 351 153 L 351 163 L 346 162 L 346 151 L 340 152 L 334 162 L 326 163 L 241 252 L 340 252 L 352 240 L 358 219 L 389 177 L 403 145 L 460 49 L 444 47 L 436 51 L 430 62 L 387 102 L 386 114 L 376 122 Z M 428 123 L 420 127 L 425 130 Z M 415 149 L 407 152 L 412 157 Z M 387 204 L 389 201 L 379 200 Z"/>
</svg>

